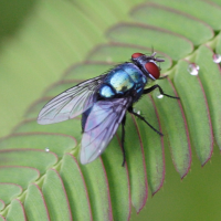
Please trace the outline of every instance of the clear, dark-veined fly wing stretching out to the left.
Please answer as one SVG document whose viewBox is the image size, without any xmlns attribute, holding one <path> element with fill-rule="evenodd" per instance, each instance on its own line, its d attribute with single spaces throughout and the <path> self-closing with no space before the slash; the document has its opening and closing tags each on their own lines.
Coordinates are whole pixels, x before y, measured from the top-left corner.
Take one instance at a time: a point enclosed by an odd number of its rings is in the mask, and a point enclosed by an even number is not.
<svg viewBox="0 0 221 221">
<path fill-rule="evenodd" d="M 88 109 L 95 93 L 106 75 L 87 80 L 51 99 L 40 112 L 38 123 L 53 124 L 74 118 Z"/>
</svg>

